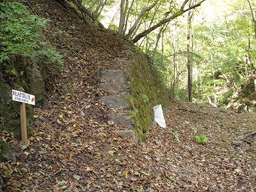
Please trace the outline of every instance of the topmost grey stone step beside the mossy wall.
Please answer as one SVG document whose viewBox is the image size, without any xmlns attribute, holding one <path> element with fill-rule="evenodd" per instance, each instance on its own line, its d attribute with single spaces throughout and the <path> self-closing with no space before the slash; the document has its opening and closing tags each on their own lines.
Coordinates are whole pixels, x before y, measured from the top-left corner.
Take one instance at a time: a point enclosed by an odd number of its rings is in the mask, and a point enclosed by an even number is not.
<svg viewBox="0 0 256 192">
<path fill-rule="evenodd" d="M 101 78 L 114 82 L 125 82 L 129 81 L 129 76 L 121 69 L 109 69 L 102 70 L 100 72 Z"/>
</svg>

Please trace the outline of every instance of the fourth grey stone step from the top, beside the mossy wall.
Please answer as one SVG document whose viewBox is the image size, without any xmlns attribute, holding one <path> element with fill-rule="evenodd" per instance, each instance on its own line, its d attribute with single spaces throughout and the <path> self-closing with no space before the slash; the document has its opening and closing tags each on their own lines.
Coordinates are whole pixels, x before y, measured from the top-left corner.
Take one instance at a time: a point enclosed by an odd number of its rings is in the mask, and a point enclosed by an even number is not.
<svg viewBox="0 0 256 192">
<path fill-rule="evenodd" d="M 134 127 L 133 116 L 129 114 L 110 114 L 109 119 L 114 123 L 123 125 L 129 128 Z"/>
</svg>

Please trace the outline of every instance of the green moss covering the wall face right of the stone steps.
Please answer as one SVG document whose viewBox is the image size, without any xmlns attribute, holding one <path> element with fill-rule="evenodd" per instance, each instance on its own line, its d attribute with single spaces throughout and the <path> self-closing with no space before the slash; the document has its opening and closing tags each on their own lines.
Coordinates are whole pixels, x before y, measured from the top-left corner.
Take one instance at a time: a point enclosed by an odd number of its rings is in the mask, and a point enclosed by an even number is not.
<svg viewBox="0 0 256 192">
<path fill-rule="evenodd" d="M 152 66 L 145 55 L 140 55 L 130 66 L 131 93 L 127 99 L 132 108 L 135 130 L 140 142 L 147 138 L 154 114 L 153 107 L 168 105 L 169 96 L 160 78 L 160 73 Z"/>
</svg>

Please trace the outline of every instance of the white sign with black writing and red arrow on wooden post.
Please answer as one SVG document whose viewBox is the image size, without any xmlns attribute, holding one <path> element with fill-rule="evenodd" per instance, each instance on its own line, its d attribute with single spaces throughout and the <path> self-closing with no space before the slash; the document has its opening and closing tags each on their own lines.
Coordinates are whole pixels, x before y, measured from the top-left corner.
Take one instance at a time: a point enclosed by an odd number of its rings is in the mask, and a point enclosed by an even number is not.
<svg viewBox="0 0 256 192">
<path fill-rule="evenodd" d="M 12 90 L 12 99 L 20 103 L 20 126 L 21 126 L 21 139 L 23 145 L 28 142 L 28 132 L 26 129 L 26 104 L 35 105 L 35 96 L 23 92 L 23 88 L 19 90 Z"/>
</svg>

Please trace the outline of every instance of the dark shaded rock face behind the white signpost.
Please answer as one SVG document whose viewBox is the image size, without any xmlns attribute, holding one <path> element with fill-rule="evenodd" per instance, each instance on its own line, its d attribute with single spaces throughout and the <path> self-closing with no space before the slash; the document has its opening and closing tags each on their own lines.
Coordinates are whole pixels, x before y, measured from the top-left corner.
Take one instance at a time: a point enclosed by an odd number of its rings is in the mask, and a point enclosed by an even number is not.
<svg viewBox="0 0 256 192">
<path fill-rule="evenodd" d="M 26 62 L 26 63 L 24 63 Z M 29 60 L 16 59 L 13 66 L 7 66 L 4 63 L 0 66 L 0 130 L 11 133 L 20 139 L 20 108 L 19 102 L 12 101 L 11 90 L 17 90 L 20 87 L 25 89 L 26 93 L 35 95 L 37 106 L 44 105 L 46 93 L 44 78 L 38 70 L 35 62 Z M 15 72 L 11 76 L 9 72 Z M 32 134 L 33 107 L 26 105 L 27 129 L 28 135 Z M 0 161 L 10 159 L 11 149 L 5 142 L 0 143 Z"/>
</svg>

